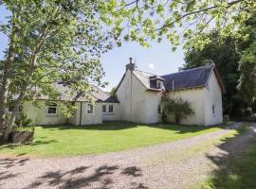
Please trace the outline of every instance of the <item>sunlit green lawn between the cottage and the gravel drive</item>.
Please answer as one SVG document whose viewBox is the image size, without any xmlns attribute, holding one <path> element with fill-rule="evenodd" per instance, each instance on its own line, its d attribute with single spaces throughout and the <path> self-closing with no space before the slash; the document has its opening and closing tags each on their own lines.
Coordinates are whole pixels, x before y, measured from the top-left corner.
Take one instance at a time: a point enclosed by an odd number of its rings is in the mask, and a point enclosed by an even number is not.
<svg viewBox="0 0 256 189">
<path fill-rule="evenodd" d="M 129 122 L 106 122 L 83 127 L 36 127 L 32 145 L 0 146 L 0 154 L 56 157 L 119 151 L 180 140 L 221 128 Z"/>
</svg>

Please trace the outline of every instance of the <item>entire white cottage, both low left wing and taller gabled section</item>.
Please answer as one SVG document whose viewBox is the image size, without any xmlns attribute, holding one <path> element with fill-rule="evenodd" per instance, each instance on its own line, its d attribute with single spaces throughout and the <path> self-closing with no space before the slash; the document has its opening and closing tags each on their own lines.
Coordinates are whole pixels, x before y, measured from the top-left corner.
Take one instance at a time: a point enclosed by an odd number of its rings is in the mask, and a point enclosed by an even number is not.
<svg viewBox="0 0 256 189">
<path fill-rule="evenodd" d="M 130 59 L 126 72 L 113 97 L 97 87 L 85 95 L 63 84 L 56 84 L 61 94 L 59 103 L 46 105 L 48 98 L 38 94 L 34 101 L 25 101 L 20 112 L 27 114 L 37 125 L 72 124 L 76 126 L 101 124 L 102 121 L 125 120 L 153 124 L 161 122 L 161 95 L 167 93 L 192 104 L 194 114 L 182 124 L 211 126 L 223 122 L 222 93 L 224 85 L 214 63 L 170 75 L 157 76 L 136 69 Z M 88 98 L 92 98 L 90 103 Z M 60 104 L 72 102 L 74 115 L 67 119 Z M 9 108 L 11 112 L 11 107 Z M 169 121 L 174 121 L 168 115 Z"/>
</svg>

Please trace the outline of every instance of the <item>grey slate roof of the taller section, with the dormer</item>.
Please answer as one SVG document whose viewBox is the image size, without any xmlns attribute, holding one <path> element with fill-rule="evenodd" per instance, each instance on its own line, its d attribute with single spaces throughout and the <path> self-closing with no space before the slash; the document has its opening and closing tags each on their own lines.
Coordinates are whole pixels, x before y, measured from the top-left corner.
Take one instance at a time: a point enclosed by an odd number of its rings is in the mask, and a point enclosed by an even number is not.
<svg viewBox="0 0 256 189">
<path fill-rule="evenodd" d="M 224 91 L 224 85 L 218 75 L 214 63 L 165 76 L 156 76 L 155 74 L 150 74 L 139 70 L 135 70 L 133 73 L 148 90 L 161 91 L 160 89 L 157 89 L 156 82 L 154 82 L 156 78 L 163 81 L 164 90 L 172 91 L 173 81 L 174 90 L 205 87 L 208 84 L 211 73 L 213 72 L 215 73 L 218 82 Z"/>
</svg>

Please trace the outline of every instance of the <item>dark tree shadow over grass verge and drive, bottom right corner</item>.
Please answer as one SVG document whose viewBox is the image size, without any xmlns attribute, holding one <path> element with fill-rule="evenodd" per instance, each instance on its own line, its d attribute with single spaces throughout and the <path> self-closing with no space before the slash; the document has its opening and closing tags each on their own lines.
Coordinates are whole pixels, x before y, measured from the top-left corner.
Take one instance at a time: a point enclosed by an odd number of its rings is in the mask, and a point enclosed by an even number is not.
<svg viewBox="0 0 256 189">
<path fill-rule="evenodd" d="M 218 168 L 201 188 L 256 188 L 256 131 L 251 128 L 237 131 L 234 138 L 224 139 L 218 145 L 221 152 L 206 154 Z"/>
</svg>

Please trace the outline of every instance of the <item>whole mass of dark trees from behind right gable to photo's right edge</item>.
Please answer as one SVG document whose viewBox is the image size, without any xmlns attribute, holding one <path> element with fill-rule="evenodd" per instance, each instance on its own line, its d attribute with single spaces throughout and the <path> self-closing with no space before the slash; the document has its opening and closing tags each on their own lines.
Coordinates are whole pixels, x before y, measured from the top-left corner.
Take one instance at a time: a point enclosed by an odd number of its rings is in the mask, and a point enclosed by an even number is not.
<svg viewBox="0 0 256 189">
<path fill-rule="evenodd" d="M 249 59 L 247 51 L 253 52 L 250 48 L 251 43 L 255 42 L 252 32 L 252 28 L 256 26 L 256 22 L 252 21 L 254 17 L 247 20 L 244 30 L 240 31 L 241 34 L 237 37 L 223 37 L 219 32 L 211 31 L 210 43 L 203 48 L 192 46 L 187 49 L 186 63 L 182 68 L 202 66 L 204 60 L 213 60 L 226 86 L 224 112 L 231 116 L 239 115 L 239 110 L 246 109 L 255 96 L 256 61 L 245 60 Z"/>
</svg>

